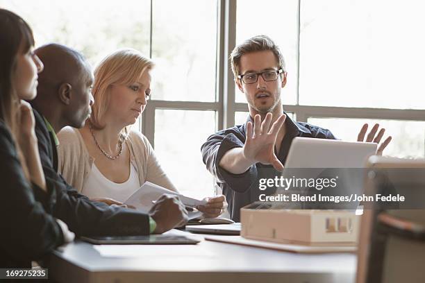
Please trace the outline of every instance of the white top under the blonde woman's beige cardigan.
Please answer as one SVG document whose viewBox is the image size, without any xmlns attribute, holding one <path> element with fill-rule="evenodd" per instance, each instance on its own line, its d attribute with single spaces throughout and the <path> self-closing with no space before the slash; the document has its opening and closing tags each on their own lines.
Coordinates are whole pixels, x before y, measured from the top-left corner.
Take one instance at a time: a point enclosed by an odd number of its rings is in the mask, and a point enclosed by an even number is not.
<svg viewBox="0 0 425 283">
<path fill-rule="evenodd" d="M 130 176 L 123 183 L 116 183 L 106 178 L 93 162 L 92 172 L 89 174 L 81 194 L 89 198 L 113 198 L 124 203 L 139 187 L 138 172 L 131 162 Z"/>
</svg>

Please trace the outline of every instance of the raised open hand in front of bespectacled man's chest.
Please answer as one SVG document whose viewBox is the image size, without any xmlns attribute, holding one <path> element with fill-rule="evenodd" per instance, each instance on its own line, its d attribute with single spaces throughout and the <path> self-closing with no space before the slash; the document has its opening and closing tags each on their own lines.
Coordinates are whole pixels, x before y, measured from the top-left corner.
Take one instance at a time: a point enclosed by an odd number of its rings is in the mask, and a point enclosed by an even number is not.
<svg viewBox="0 0 425 283">
<path fill-rule="evenodd" d="M 263 123 L 261 123 L 261 118 L 258 114 L 254 117 L 253 124 L 249 121 L 247 123 L 247 140 L 243 151 L 244 157 L 253 163 L 272 164 L 274 169 L 283 171 L 283 164 L 274 153 L 274 144 L 276 144 L 276 137 L 285 119 L 286 115 L 282 114 L 273 123 L 272 127 L 270 127 L 272 113 L 266 114 Z"/>
</svg>

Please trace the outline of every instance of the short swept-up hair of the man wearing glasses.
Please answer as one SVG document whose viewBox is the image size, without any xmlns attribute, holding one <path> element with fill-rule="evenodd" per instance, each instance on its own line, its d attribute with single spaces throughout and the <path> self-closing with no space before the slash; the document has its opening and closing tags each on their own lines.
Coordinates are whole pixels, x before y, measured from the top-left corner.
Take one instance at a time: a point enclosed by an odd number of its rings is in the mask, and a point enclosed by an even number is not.
<svg viewBox="0 0 425 283">
<path fill-rule="evenodd" d="M 283 69 L 283 72 L 285 72 L 285 59 L 283 58 L 279 47 L 267 35 L 256 35 L 236 46 L 230 55 L 232 71 L 235 79 L 237 79 L 240 75 L 239 67 L 242 55 L 267 50 L 274 53 L 278 62 L 278 69 Z"/>
</svg>

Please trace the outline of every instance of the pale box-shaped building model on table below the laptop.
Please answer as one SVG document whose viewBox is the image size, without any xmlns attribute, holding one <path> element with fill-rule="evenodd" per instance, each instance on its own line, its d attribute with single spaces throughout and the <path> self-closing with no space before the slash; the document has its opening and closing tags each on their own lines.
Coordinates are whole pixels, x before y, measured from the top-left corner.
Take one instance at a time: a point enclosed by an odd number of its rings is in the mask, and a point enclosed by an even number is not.
<svg viewBox="0 0 425 283">
<path fill-rule="evenodd" d="M 347 210 L 241 209 L 241 236 L 306 245 L 356 245 L 360 216 Z"/>
</svg>

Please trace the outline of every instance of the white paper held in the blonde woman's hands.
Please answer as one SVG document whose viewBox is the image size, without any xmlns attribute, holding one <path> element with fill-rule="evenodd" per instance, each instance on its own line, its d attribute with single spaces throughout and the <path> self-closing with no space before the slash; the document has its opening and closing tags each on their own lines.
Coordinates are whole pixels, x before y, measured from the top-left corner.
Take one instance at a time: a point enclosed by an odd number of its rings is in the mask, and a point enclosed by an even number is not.
<svg viewBox="0 0 425 283">
<path fill-rule="evenodd" d="M 151 182 L 145 182 L 142 187 L 135 191 L 125 202 L 126 205 L 133 205 L 136 209 L 141 212 L 149 212 L 153 207 L 153 202 L 158 200 L 163 194 L 172 194 L 180 198 L 183 205 L 187 207 L 196 207 L 197 205 L 205 205 L 205 200 L 197 200 L 195 198 L 190 198 L 188 196 L 183 196 L 178 194 L 175 191 L 170 191 L 164 187 L 160 187 Z M 189 212 L 189 219 L 197 218 L 202 215 L 202 212 L 197 211 L 196 209 L 193 212 Z"/>
</svg>

